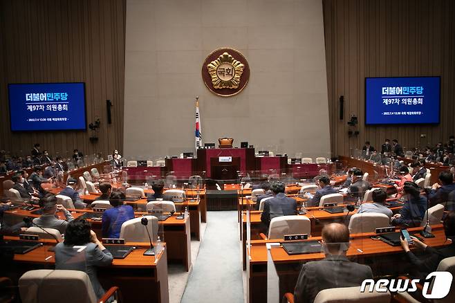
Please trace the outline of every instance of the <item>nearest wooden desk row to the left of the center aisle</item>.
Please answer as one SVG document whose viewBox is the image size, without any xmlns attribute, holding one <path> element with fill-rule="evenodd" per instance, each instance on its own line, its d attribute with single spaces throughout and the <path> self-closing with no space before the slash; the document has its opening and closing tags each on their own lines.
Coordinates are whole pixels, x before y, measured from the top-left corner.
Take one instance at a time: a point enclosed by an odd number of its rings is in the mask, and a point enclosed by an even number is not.
<svg viewBox="0 0 455 303">
<path fill-rule="evenodd" d="M 5 237 L 6 240 L 17 240 L 17 237 Z M 54 269 L 55 253 L 49 251 L 55 246 L 53 240 L 39 241 L 44 245 L 24 255 L 14 255 L 12 264 L 5 264 L 2 272 L 17 279 L 28 270 Z M 158 257 L 144 256 L 150 247 L 148 243 L 129 242 L 125 245 L 135 246 L 124 259 L 114 259 L 111 266 L 97 268 L 97 277 L 104 289 L 118 286 L 122 302 L 169 302 L 169 286 L 167 279 L 167 244 Z M 3 271 L 4 270 L 4 271 Z"/>
</svg>

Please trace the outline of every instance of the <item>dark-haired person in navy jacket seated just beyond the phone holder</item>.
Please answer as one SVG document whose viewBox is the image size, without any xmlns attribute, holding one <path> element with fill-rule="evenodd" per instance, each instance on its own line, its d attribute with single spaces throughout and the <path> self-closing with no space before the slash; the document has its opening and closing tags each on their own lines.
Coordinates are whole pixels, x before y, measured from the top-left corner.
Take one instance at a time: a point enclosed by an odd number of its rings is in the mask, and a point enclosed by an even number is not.
<svg viewBox="0 0 455 303">
<path fill-rule="evenodd" d="M 406 182 L 403 186 L 405 205 L 399 214 L 394 214 L 391 223 L 394 226 L 406 228 L 420 226 L 420 222 L 427 211 L 427 198 L 420 196 L 420 188 L 414 182 Z"/>
</svg>

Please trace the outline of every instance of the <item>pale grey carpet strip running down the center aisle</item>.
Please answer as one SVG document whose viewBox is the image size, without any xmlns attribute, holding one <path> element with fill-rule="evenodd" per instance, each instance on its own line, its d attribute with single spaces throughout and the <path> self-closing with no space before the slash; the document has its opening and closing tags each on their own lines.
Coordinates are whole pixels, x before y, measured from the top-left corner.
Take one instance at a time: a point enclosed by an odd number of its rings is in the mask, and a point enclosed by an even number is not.
<svg viewBox="0 0 455 303">
<path fill-rule="evenodd" d="M 181 303 L 243 302 L 237 212 L 209 212 L 207 229 Z"/>
</svg>

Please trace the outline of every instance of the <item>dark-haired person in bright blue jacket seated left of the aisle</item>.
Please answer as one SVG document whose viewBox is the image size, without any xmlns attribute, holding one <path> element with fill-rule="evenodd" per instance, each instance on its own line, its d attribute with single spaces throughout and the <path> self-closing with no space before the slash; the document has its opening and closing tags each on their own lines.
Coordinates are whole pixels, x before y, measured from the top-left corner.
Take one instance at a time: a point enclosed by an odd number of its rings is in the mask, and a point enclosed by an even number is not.
<svg viewBox="0 0 455 303">
<path fill-rule="evenodd" d="M 125 195 L 122 192 L 113 192 L 109 197 L 109 203 L 113 206 L 109 210 L 104 210 L 102 215 L 102 237 L 120 238 L 122 224 L 134 219 L 134 210 L 131 205 L 124 205 Z"/>
</svg>

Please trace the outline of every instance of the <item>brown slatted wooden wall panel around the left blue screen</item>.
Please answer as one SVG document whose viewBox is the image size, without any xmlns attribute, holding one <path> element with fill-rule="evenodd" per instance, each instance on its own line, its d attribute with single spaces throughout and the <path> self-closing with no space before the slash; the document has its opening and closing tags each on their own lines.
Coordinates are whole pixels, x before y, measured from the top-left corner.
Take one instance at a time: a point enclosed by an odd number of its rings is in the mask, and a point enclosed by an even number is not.
<svg viewBox="0 0 455 303">
<path fill-rule="evenodd" d="M 126 0 L 0 1 L 0 149 L 28 154 L 122 150 Z M 8 83 L 85 82 L 86 120 L 100 118 L 99 140 L 87 131 L 10 131 Z M 107 124 L 111 100 L 112 124 Z"/>
</svg>

